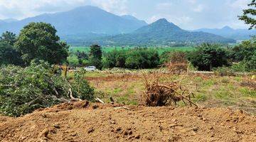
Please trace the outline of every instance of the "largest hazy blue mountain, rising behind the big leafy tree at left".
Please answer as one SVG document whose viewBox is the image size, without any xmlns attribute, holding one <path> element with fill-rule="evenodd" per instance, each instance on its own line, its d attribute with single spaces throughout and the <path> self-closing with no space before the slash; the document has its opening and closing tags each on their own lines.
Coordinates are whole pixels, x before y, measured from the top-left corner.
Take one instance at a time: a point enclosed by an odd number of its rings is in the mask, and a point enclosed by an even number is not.
<svg viewBox="0 0 256 142">
<path fill-rule="evenodd" d="M 23 26 L 30 22 L 51 23 L 62 35 L 77 34 L 107 34 L 130 33 L 137 28 L 145 26 L 146 23 L 136 18 L 123 18 L 112 13 L 99 9 L 95 6 L 82 6 L 71 11 L 59 13 L 45 13 L 39 16 L 25 18 L 21 21 L 0 24 L 0 33 L 12 31 L 18 33 Z"/>
</svg>

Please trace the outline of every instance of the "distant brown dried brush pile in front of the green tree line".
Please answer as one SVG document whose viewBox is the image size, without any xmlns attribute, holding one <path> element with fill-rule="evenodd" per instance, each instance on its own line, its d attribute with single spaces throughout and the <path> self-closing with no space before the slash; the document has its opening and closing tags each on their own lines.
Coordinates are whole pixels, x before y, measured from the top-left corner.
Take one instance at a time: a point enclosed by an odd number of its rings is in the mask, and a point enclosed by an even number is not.
<svg viewBox="0 0 256 142">
<path fill-rule="evenodd" d="M 188 72 L 188 60 L 186 59 L 186 53 L 171 53 L 169 62 L 165 62 L 164 66 L 168 68 L 171 74 L 180 75 L 181 73 Z"/>
</svg>

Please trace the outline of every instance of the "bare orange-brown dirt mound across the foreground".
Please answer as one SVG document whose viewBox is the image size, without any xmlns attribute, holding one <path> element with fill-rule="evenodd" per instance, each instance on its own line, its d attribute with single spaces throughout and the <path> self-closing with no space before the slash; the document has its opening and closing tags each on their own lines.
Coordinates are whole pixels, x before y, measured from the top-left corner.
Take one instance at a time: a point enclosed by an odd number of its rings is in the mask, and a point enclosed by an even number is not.
<svg viewBox="0 0 256 142">
<path fill-rule="evenodd" d="M 0 141 L 255 141 L 256 118 L 231 109 L 73 102 L 6 118 L 0 131 Z"/>
</svg>

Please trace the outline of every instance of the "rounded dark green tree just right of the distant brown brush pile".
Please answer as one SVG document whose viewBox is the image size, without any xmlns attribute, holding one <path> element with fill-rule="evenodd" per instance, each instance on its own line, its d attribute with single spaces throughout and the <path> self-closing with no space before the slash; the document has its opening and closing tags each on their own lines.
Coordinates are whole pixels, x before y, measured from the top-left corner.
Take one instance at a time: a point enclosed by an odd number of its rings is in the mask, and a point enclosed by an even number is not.
<svg viewBox="0 0 256 142">
<path fill-rule="evenodd" d="M 188 60 L 198 70 L 212 70 L 213 67 L 228 65 L 228 53 L 218 45 L 203 43 L 188 55 Z"/>
</svg>

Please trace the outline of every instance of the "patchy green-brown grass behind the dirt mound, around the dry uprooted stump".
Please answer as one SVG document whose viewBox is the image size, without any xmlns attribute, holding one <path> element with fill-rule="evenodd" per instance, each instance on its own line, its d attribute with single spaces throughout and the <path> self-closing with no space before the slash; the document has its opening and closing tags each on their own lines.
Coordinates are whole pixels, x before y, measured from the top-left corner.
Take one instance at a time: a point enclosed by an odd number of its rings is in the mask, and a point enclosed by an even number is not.
<svg viewBox="0 0 256 142">
<path fill-rule="evenodd" d="M 120 104 L 141 104 L 141 95 L 144 92 L 144 80 L 132 71 L 124 73 L 87 72 L 90 84 L 96 92 L 101 92 L 100 97 L 104 102 L 110 102 L 112 97 Z M 129 75 L 127 75 L 127 73 Z M 126 76 L 125 76 L 126 75 Z M 241 82 L 246 77 L 219 77 L 219 76 L 178 76 L 174 75 L 169 80 L 181 80 L 188 84 L 189 91 L 195 94 L 193 102 L 206 107 L 233 107 L 256 114 L 256 90 L 244 87 Z M 179 102 L 183 106 L 182 102 Z"/>
</svg>

